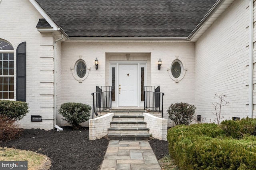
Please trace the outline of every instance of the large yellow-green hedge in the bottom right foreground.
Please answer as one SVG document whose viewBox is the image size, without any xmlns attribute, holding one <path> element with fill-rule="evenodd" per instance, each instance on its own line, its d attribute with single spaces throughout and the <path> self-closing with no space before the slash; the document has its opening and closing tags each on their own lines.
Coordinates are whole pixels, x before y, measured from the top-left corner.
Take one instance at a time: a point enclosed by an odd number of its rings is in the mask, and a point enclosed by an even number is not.
<svg viewBox="0 0 256 170">
<path fill-rule="evenodd" d="M 169 153 L 184 170 L 244 170 L 256 167 L 256 136 L 233 139 L 215 124 L 180 125 L 168 130 Z"/>
</svg>

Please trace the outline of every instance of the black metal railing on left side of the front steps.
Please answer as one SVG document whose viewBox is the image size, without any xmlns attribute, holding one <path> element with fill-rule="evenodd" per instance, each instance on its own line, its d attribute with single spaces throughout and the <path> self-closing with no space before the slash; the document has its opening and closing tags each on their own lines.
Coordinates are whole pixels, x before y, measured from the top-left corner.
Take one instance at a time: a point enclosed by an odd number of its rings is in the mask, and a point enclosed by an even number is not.
<svg viewBox="0 0 256 170">
<path fill-rule="evenodd" d="M 112 86 L 96 86 L 96 92 L 92 93 L 92 119 L 98 112 L 107 109 L 111 110 L 112 103 Z"/>
</svg>

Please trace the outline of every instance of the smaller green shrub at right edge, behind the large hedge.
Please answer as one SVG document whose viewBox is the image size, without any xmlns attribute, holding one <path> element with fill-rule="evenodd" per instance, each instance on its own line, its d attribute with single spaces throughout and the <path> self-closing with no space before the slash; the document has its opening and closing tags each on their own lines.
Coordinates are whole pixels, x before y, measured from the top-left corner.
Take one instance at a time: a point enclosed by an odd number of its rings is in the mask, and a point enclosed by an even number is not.
<svg viewBox="0 0 256 170">
<path fill-rule="evenodd" d="M 242 138 L 244 134 L 256 135 L 256 119 L 248 117 L 240 121 L 222 121 L 220 127 L 224 130 L 226 136 L 236 139 Z"/>
</svg>

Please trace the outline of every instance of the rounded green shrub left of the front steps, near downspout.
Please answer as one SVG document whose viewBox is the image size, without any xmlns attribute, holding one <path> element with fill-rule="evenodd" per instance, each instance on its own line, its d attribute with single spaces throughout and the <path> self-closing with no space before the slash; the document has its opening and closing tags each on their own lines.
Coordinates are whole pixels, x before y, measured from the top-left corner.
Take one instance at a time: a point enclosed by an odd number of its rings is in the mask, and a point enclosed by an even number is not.
<svg viewBox="0 0 256 170">
<path fill-rule="evenodd" d="M 80 128 L 80 123 L 89 120 L 91 107 L 82 103 L 63 103 L 59 113 L 74 129 Z"/>
</svg>

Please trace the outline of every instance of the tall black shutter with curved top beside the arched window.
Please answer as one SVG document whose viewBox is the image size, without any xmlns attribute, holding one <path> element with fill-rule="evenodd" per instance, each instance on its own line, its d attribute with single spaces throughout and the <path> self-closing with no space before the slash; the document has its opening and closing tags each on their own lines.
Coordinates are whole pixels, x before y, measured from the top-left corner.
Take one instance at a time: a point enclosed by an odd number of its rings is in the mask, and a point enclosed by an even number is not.
<svg viewBox="0 0 256 170">
<path fill-rule="evenodd" d="M 16 69 L 16 100 L 26 101 L 26 42 L 17 47 Z"/>
</svg>

